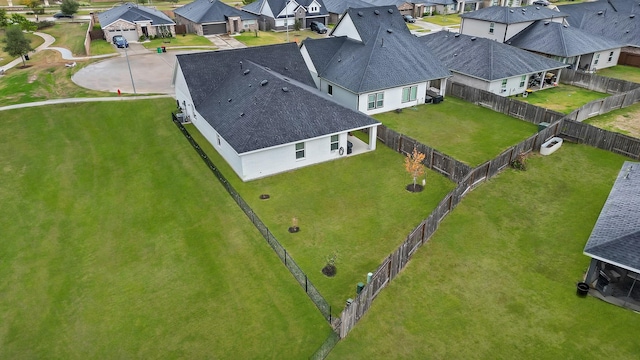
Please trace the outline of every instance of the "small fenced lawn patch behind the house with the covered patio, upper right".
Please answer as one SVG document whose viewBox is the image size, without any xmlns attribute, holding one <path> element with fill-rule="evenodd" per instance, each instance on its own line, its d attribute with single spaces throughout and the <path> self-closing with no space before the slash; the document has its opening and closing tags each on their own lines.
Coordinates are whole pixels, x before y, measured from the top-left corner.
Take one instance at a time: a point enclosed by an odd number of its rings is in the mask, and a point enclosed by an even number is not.
<svg viewBox="0 0 640 360">
<path fill-rule="evenodd" d="M 526 98 L 518 97 L 517 99 L 563 114 L 569 114 L 588 102 L 608 96 L 610 95 L 576 86 L 560 84 L 553 88 L 532 92 Z"/>
</svg>

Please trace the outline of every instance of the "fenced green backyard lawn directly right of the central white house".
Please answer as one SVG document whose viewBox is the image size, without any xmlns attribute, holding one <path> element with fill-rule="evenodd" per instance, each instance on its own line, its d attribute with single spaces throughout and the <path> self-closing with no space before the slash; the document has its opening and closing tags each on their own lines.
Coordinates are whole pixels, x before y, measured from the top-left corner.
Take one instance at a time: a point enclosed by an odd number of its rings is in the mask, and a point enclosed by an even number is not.
<svg viewBox="0 0 640 360">
<path fill-rule="evenodd" d="M 533 124 L 449 96 L 374 116 L 389 128 L 476 166 L 533 135 Z"/>
</svg>

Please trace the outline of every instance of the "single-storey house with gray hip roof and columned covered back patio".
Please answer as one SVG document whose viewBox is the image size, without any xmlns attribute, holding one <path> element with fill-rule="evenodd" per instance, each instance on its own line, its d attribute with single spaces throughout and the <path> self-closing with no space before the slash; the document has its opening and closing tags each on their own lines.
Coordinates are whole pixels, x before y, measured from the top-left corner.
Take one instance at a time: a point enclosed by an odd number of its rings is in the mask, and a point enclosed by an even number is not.
<svg viewBox="0 0 640 360">
<path fill-rule="evenodd" d="M 418 39 L 451 70 L 452 81 L 501 96 L 553 86 L 567 67 L 507 44 L 448 31 Z"/>
</svg>

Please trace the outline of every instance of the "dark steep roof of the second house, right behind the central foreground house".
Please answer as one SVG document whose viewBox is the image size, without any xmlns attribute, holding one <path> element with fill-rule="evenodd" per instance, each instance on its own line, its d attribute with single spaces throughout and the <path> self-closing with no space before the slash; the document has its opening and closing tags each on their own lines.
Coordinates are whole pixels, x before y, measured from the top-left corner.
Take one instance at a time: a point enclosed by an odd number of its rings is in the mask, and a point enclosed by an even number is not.
<svg viewBox="0 0 640 360">
<path fill-rule="evenodd" d="M 347 14 L 362 42 L 345 37 L 303 42 L 323 79 L 361 94 L 451 76 L 419 45 L 394 6 L 349 9 Z"/>
</svg>

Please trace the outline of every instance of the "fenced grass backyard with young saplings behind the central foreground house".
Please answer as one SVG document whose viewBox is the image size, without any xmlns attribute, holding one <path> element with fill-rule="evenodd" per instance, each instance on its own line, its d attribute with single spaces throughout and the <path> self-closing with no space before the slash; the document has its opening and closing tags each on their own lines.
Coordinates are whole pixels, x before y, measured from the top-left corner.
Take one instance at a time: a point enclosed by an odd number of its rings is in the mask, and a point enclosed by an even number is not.
<svg viewBox="0 0 640 360">
<path fill-rule="evenodd" d="M 393 252 L 454 184 L 429 172 L 426 190 L 410 193 L 404 157 L 383 144 L 376 151 L 242 183 L 218 153 L 190 127 L 194 138 L 256 211 L 332 306 L 334 314 L 355 296 L 356 284 Z M 268 200 L 260 200 L 269 194 Z M 300 232 L 290 234 L 292 218 Z M 338 274 L 321 272 L 337 253 Z"/>
</svg>

